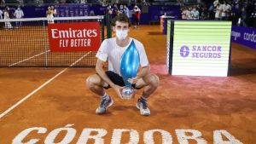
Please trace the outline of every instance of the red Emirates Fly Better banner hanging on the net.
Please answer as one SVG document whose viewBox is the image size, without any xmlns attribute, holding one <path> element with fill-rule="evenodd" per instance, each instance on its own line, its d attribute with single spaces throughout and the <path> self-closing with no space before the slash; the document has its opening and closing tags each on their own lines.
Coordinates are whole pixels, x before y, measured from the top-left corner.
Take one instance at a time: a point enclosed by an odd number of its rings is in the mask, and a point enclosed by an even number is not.
<svg viewBox="0 0 256 144">
<path fill-rule="evenodd" d="M 52 52 L 97 51 L 101 45 L 99 22 L 49 24 Z"/>
</svg>

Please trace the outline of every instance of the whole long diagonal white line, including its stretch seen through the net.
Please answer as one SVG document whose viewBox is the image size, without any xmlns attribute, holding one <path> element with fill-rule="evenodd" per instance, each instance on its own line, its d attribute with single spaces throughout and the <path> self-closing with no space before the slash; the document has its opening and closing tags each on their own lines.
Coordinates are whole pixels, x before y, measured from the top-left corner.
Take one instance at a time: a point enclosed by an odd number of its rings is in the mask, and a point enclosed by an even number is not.
<svg viewBox="0 0 256 144">
<path fill-rule="evenodd" d="M 44 52 L 45 53 L 45 52 Z M 73 62 L 73 64 L 70 65 L 70 67 L 74 66 L 76 63 L 78 63 L 80 60 L 84 59 L 85 56 L 89 55 L 91 53 L 88 52 L 85 55 L 83 55 L 82 57 L 79 58 L 79 60 L 75 60 Z M 30 98 L 32 95 L 34 95 L 35 93 L 38 92 L 38 90 L 44 88 L 45 85 L 49 84 L 51 81 L 53 81 L 55 78 L 59 77 L 63 72 L 67 71 L 67 68 L 65 68 L 64 70 L 62 70 L 61 72 L 57 73 L 53 78 L 50 78 L 47 82 L 45 82 L 44 84 L 42 84 L 41 86 L 38 87 L 38 89 L 34 89 L 30 94 L 26 95 L 23 99 L 21 99 L 20 101 L 18 101 L 17 103 L 15 103 L 15 105 L 13 105 L 12 107 L 9 107 L 9 109 L 7 109 L 6 111 L 4 111 L 3 113 L 0 114 L 0 119 L 3 118 L 8 112 L 11 112 L 13 109 L 15 109 L 15 107 L 18 107 L 22 102 L 26 101 L 26 99 Z"/>
</svg>

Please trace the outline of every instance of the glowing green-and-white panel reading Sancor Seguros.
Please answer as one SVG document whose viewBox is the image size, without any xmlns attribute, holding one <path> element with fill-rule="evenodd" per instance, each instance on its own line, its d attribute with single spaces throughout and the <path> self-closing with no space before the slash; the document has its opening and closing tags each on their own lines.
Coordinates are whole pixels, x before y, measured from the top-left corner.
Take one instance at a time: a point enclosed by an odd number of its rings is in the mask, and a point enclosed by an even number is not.
<svg viewBox="0 0 256 144">
<path fill-rule="evenodd" d="M 172 75 L 226 77 L 230 32 L 229 21 L 174 21 Z"/>
</svg>

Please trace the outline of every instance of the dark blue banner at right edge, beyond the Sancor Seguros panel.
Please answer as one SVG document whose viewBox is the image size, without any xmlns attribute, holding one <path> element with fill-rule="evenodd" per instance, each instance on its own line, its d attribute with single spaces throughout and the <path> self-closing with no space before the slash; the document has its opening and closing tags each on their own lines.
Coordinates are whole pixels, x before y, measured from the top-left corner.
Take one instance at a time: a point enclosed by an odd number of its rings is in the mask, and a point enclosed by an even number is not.
<svg viewBox="0 0 256 144">
<path fill-rule="evenodd" d="M 232 26 L 231 42 L 256 49 L 256 28 Z"/>
</svg>

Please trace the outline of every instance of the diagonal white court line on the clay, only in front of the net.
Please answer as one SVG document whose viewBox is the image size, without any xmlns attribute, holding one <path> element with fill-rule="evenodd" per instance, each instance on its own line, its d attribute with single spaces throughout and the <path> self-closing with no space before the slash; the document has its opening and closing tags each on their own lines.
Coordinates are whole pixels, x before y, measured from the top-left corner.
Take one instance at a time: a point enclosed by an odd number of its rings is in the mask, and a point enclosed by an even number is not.
<svg viewBox="0 0 256 144">
<path fill-rule="evenodd" d="M 15 107 L 18 107 L 22 102 L 26 101 L 26 99 L 28 99 L 31 95 L 35 94 L 36 92 L 38 92 L 38 90 L 44 88 L 44 86 L 46 84 L 49 84 L 51 81 L 53 81 L 55 78 L 57 78 L 58 76 L 61 75 L 61 73 L 65 72 L 67 70 L 67 68 L 65 68 L 64 70 L 62 70 L 61 72 L 59 72 L 58 74 L 55 75 L 55 77 L 50 78 L 47 82 L 45 82 L 44 84 L 42 84 L 41 86 L 38 87 L 38 89 L 34 89 L 30 94 L 26 95 L 26 97 L 24 97 L 23 99 L 21 99 L 20 101 L 18 101 L 14 106 L 9 107 L 8 110 L 6 110 L 5 112 L 0 114 L 0 119 L 3 118 L 3 116 L 5 116 L 8 112 L 12 111 L 13 109 L 15 109 Z"/>
</svg>

